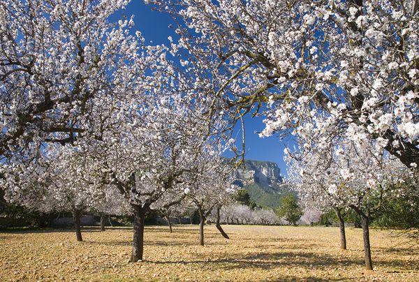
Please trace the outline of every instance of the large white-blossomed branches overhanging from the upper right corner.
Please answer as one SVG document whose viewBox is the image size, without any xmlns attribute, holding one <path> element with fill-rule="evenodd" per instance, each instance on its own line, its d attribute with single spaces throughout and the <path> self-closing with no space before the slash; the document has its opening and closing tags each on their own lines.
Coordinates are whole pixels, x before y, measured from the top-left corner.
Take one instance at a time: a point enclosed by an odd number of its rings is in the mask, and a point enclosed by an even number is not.
<svg viewBox="0 0 419 282">
<path fill-rule="evenodd" d="M 333 130 L 318 142 L 379 139 L 417 168 L 417 0 L 147 2 L 184 20 L 174 50 L 189 65 L 207 66 L 208 92 L 233 119 L 262 105 L 262 136 L 304 138 L 301 124 L 321 115 L 318 128 Z"/>
</svg>

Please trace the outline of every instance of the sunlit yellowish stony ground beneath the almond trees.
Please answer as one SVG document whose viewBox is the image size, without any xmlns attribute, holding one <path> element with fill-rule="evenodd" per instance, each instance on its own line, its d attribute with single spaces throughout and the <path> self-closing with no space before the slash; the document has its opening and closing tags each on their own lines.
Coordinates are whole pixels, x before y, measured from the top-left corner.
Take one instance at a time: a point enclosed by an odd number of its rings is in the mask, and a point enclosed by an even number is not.
<svg viewBox="0 0 419 282">
<path fill-rule="evenodd" d="M 145 230 L 145 261 L 129 263 L 132 230 L 0 233 L 0 281 L 419 281 L 419 248 L 389 232 L 372 230 L 375 270 L 363 266 L 361 230 L 347 228 L 348 250 L 339 250 L 338 228 L 225 225 L 230 240 L 205 226 Z"/>
</svg>

